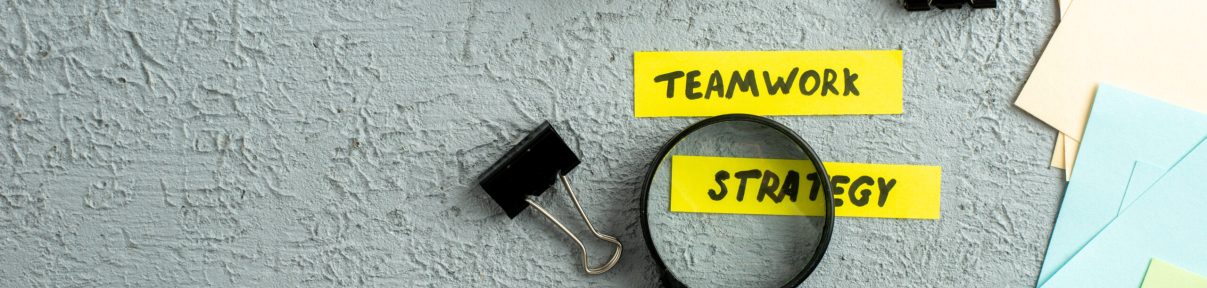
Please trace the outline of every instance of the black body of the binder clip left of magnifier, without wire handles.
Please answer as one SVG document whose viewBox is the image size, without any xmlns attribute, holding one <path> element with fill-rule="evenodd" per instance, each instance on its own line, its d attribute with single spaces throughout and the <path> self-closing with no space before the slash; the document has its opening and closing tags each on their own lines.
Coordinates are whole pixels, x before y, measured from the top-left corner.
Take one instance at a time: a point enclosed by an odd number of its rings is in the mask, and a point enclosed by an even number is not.
<svg viewBox="0 0 1207 288">
<path fill-rule="evenodd" d="M 547 121 L 490 165 L 478 177 L 478 184 L 507 217 L 515 218 L 527 208 L 529 196 L 540 196 L 578 163 L 578 155 Z"/>
</svg>

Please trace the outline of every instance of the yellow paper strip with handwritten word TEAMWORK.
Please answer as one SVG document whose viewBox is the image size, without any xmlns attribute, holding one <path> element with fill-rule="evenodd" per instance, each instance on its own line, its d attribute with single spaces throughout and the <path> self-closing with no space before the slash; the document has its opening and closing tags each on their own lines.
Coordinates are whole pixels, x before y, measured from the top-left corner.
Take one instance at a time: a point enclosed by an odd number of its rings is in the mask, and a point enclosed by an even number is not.
<svg viewBox="0 0 1207 288">
<path fill-rule="evenodd" d="M 636 52 L 636 117 L 899 114 L 902 51 Z"/>
</svg>

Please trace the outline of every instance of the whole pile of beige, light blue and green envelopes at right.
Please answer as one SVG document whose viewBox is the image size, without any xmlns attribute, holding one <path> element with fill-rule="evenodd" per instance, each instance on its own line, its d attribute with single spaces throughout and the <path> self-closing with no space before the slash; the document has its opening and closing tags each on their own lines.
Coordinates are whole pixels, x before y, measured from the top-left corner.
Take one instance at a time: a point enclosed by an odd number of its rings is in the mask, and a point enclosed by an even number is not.
<svg viewBox="0 0 1207 288">
<path fill-rule="evenodd" d="M 1207 287 L 1207 1 L 1060 7 L 1015 100 L 1069 181 L 1036 286 Z"/>
</svg>

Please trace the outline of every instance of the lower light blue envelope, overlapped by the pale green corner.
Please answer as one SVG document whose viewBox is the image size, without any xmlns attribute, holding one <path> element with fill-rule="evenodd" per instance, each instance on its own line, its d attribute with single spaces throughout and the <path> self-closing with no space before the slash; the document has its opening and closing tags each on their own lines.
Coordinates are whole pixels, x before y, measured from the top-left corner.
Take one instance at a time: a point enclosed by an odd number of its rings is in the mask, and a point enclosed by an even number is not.
<svg viewBox="0 0 1207 288">
<path fill-rule="evenodd" d="M 1207 140 L 1207 139 L 1205 139 Z M 1207 145 L 1176 163 L 1044 287 L 1138 287 L 1153 258 L 1207 272 Z"/>
</svg>

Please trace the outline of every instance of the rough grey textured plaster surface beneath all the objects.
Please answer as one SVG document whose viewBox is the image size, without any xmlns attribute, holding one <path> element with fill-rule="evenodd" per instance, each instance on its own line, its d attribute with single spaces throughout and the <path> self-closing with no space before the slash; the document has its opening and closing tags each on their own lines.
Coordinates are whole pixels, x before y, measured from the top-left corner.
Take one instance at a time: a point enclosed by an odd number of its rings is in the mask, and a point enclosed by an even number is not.
<svg viewBox="0 0 1207 288">
<path fill-rule="evenodd" d="M 639 182 L 696 119 L 632 117 L 634 51 L 896 48 L 904 114 L 776 119 L 826 159 L 941 165 L 943 218 L 836 219 L 806 283 L 1030 286 L 1063 183 L 1011 101 L 1056 8 L 999 1 L 5 1 L 0 286 L 651 286 Z M 543 119 L 626 243 L 606 275 L 471 190 Z"/>
</svg>

